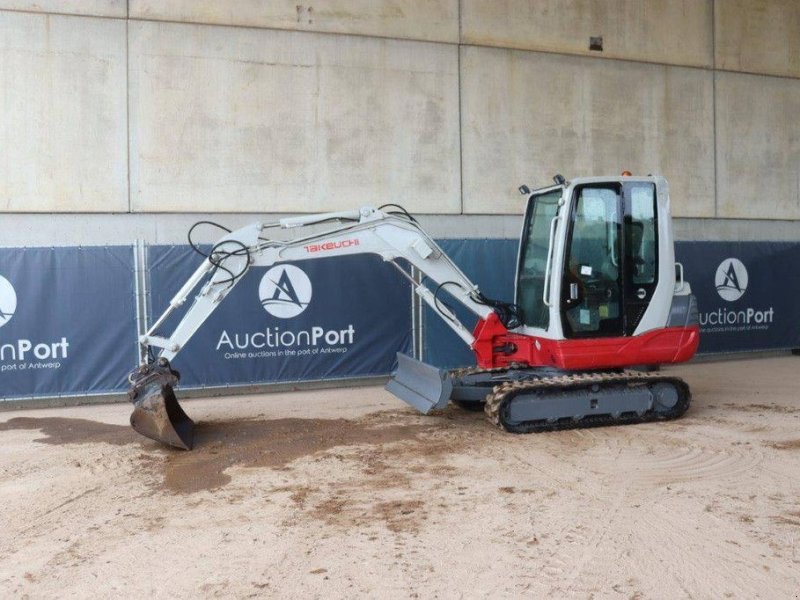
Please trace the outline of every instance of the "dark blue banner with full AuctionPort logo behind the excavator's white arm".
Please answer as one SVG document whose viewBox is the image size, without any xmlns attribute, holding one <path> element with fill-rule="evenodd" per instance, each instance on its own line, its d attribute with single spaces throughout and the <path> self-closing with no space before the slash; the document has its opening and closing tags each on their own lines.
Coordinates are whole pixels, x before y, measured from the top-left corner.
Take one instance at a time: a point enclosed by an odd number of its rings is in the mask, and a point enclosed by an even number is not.
<svg viewBox="0 0 800 600">
<path fill-rule="evenodd" d="M 152 246 L 148 262 L 153 322 L 202 257 Z M 171 333 L 180 316 L 159 333 Z M 385 375 L 398 351 L 410 352 L 411 331 L 410 286 L 380 258 L 286 263 L 251 269 L 173 366 L 182 386 Z"/>
</svg>

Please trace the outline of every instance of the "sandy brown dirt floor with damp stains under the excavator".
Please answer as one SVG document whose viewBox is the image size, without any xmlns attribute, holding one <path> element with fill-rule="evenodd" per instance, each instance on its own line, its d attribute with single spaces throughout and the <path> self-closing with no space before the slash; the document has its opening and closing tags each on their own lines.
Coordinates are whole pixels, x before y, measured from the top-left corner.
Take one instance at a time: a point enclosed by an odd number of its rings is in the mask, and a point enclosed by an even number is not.
<svg viewBox="0 0 800 600">
<path fill-rule="evenodd" d="M 380 388 L 0 413 L 0 596 L 798 598 L 800 358 L 675 422 L 527 436 Z"/>
</svg>

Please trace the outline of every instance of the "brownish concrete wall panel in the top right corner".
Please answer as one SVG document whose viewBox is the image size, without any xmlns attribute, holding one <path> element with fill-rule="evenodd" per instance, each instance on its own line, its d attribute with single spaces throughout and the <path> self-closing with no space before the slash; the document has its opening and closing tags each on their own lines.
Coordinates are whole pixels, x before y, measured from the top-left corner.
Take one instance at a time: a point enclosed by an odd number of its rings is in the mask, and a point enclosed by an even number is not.
<svg viewBox="0 0 800 600">
<path fill-rule="evenodd" d="M 800 2 L 723 0 L 714 18 L 717 68 L 800 77 Z"/>
</svg>

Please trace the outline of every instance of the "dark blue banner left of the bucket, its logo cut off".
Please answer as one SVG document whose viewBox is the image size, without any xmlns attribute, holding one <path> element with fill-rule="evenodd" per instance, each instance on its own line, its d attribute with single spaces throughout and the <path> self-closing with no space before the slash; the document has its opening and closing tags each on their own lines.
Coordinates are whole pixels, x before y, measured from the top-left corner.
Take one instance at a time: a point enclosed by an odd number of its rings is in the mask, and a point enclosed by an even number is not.
<svg viewBox="0 0 800 600">
<path fill-rule="evenodd" d="M 133 249 L 0 248 L 0 398 L 127 389 Z"/>
</svg>

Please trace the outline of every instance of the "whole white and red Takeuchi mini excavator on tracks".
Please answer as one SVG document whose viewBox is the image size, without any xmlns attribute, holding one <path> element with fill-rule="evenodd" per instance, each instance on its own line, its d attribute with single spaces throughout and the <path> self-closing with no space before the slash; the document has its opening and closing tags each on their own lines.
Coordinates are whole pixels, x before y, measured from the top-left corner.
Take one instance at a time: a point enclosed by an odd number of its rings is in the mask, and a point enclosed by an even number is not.
<svg viewBox="0 0 800 600">
<path fill-rule="evenodd" d="M 475 367 L 453 371 L 398 353 L 386 388 L 421 412 L 452 400 L 485 410 L 514 433 L 680 417 L 691 398 L 684 381 L 632 370 L 686 361 L 699 343 L 697 304 L 675 262 L 667 181 L 627 173 L 554 180 L 533 192 L 520 188 L 528 201 L 513 302 L 484 296 L 397 205 L 229 232 L 141 337 L 151 359 L 130 375 L 131 425 L 166 444 L 192 447 L 194 424 L 175 398 L 179 375 L 170 361 L 251 267 L 363 253 L 394 265 L 475 353 Z M 334 225 L 288 241 L 268 236 L 271 229 L 321 223 Z M 412 277 L 400 260 L 431 285 Z M 198 286 L 174 331 L 160 334 Z M 458 320 L 445 293 L 475 314 L 474 329 Z"/>
</svg>

